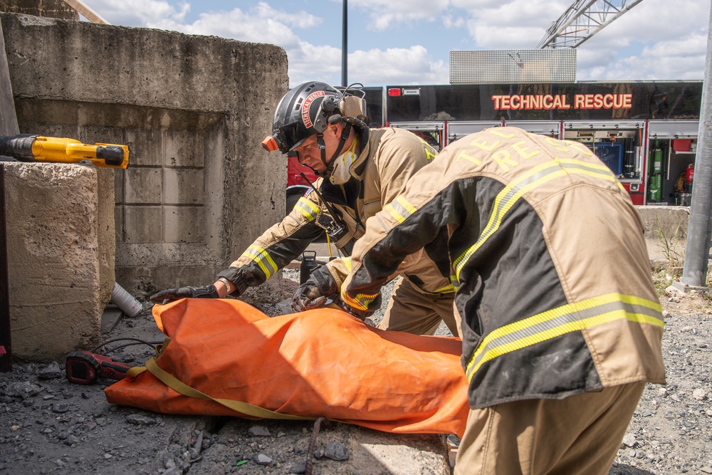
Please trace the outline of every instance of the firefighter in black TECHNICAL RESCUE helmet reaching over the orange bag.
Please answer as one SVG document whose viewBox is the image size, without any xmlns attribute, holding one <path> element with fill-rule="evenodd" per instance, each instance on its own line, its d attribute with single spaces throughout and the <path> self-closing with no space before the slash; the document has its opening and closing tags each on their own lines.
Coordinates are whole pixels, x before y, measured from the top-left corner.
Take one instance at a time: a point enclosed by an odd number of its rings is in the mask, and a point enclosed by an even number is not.
<svg viewBox="0 0 712 475">
<path fill-rule="evenodd" d="M 369 129 L 363 122 L 360 92 L 318 82 L 290 89 L 277 105 L 273 132 L 263 146 L 297 154 L 320 177 L 314 184 L 317 191 L 311 189 L 300 198 L 290 214 L 219 273 L 215 283 L 161 291 L 152 300 L 239 296 L 298 257 L 324 229 L 349 254 L 365 231 L 366 219 L 404 192 L 410 177 L 436 157 L 430 145 L 407 130 Z M 433 238 L 394 288 L 380 328 L 434 334 L 444 320 L 458 335 L 446 230 Z M 329 296 L 338 294 L 349 270 L 348 258 L 316 269 L 295 293 L 293 310 L 323 306 Z"/>
</svg>

